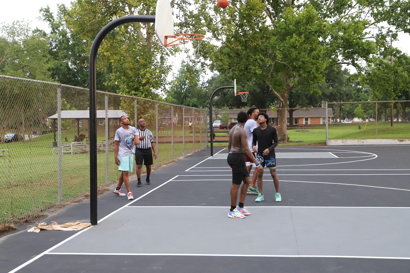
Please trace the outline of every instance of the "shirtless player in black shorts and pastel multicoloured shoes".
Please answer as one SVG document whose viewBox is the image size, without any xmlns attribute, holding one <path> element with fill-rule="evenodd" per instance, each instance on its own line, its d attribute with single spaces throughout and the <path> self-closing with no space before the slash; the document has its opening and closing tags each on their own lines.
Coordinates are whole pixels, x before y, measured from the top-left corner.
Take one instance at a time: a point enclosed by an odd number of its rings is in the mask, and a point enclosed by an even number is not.
<svg viewBox="0 0 410 273">
<path fill-rule="evenodd" d="M 227 161 L 232 169 L 231 207 L 228 212 L 228 217 L 230 218 L 245 218 L 246 215 L 251 215 L 251 212 L 244 207 L 246 191 L 248 190 L 249 183 L 251 183 L 251 178 L 249 178 L 248 169 L 246 169 L 245 165 L 245 154 L 250 158 L 251 162 L 255 163 L 257 170 L 263 174 L 263 167 L 257 162 L 248 146 L 247 135 L 244 130 L 248 117 L 248 114 L 244 111 L 239 112 L 237 115 L 238 124 L 233 126 L 229 132 Z M 241 187 L 239 205 L 236 206 L 239 186 L 242 184 L 242 181 L 244 184 Z"/>
</svg>

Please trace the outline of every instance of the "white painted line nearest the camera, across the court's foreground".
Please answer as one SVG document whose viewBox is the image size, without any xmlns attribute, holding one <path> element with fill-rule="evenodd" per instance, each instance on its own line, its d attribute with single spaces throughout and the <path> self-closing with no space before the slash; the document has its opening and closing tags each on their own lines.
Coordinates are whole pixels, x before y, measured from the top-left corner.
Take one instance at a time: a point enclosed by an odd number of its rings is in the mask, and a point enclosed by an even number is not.
<svg viewBox="0 0 410 273">
<path fill-rule="evenodd" d="M 192 254 L 192 253 L 47 253 L 48 255 L 116 255 L 116 256 L 210 256 L 210 257 L 235 257 L 237 254 Z M 335 255 L 250 255 L 245 257 L 289 257 L 289 258 L 362 258 L 362 259 L 402 259 L 410 257 L 383 257 L 383 256 L 335 256 Z"/>
</svg>

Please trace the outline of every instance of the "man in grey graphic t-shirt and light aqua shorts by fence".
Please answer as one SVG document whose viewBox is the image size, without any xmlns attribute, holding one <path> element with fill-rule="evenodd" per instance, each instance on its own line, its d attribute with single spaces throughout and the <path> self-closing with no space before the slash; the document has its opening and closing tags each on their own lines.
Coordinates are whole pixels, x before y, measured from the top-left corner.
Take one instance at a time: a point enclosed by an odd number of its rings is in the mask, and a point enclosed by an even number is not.
<svg viewBox="0 0 410 273">
<path fill-rule="evenodd" d="M 134 199 L 130 190 L 129 173 L 132 172 L 134 165 L 135 145 L 140 143 L 138 132 L 135 127 L 130 126 L 128 117 L 121 116 L 120 124 L 122 125 L 115 132 L 114 137 L 114 158 L 115 164 L 118 165 L 118 171 L 121 171 L 118 184 L 114 190 L 114 194 L 118 196 L 128 196 L 128 200 Z M 121 191 L 121 185 L 125 184 L 127 194 Z"/>
</svg>

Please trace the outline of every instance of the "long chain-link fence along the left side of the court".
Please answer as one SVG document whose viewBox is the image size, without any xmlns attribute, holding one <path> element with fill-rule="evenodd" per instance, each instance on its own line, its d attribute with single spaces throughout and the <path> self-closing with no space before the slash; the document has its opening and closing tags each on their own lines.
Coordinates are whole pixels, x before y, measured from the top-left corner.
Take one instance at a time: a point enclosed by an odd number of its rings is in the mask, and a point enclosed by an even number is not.
<svg viewBox="0 0 410 273">
<path fill-rule="evenodd" d="M 154 169 L 207 146 L 206 110 L 105 92 L 96 100 L 99 190 L 118 179 L 121 115 L 146 120 Z M 89 195 L 88 107 L 88 89 L 0 76 L 0 226 Z"/>
</svg>

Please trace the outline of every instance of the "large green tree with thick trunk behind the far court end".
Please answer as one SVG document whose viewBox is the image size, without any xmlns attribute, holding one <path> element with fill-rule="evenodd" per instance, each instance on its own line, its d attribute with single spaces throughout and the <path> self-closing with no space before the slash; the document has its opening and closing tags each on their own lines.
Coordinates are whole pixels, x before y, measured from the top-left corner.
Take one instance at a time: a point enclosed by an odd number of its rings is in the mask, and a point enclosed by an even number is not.
<svg viewBox="0 0 410 273">
<path fill-rule="evenodd" d="M 375 38 L 384 42 L 392 34 L 370 36 L 367 31 L 390 12 L 385 2 L 394 2 L 396 8 L 408 5 L 397 0 L 247 0 L 222 10 L 212 0 L 196 2 L 195 9 L 188 8 L 191 1 L 182 0 L 178 19 L 182 32 L 212 34 L 200 50 L 212 60 L 211 68 L 264 83 L 278 97 L 280 140 L 284 140 L 289 90 L 298 83 L 306 93 L 314 93 L 329 66 L 361 69 L 362 62 L 369 62 L 376 52 Z M 204 12 L 210 7 L 214 7 L 211 12 Z"/>
</svg>

